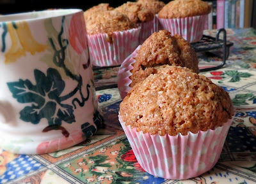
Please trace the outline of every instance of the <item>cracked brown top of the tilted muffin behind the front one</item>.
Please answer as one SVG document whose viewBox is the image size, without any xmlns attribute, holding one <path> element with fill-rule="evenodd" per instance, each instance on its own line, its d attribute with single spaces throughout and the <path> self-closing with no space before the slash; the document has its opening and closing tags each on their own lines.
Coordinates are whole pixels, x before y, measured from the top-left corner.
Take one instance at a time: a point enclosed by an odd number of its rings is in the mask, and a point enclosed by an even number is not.
<svg viewBox="0 0 256 184">
<path fill-rule="evenodd" d="M 152 73 L 157 73 L 157 66 L 168 64 L 171 66 L 182 66 L 199 73 L 198 58 L 191 45 L 171 32 L 161 30 L 154 32 L 145 40 L 138 50 L 136 62 L 133 64 L 131 87 Z"/>
</svg>

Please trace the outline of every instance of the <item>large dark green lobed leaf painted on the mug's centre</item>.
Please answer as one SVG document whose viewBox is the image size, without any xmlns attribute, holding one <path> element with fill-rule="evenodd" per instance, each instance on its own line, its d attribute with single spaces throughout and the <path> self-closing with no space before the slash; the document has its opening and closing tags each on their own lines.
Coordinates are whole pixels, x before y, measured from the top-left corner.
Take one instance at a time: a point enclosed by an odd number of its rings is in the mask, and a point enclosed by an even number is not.
<svg viewBox="0 0 256 184">
<path fill-rule="evenodd" d="M 29 103 L 20 111 L 20 119 L 32 124 L 38 124 L 42 118 L 48 120 L 49 125 L 61 125 L 61 121 L 68 124 L 75 122 L 73 107 L 61 103 L 60 94 L 65 88 L 56 69 L 47 69 L 47 75 L 35 69 L 35 82 L 19 80 L 8 83 L 8 87 L 19 103 Z"/>
</svg>

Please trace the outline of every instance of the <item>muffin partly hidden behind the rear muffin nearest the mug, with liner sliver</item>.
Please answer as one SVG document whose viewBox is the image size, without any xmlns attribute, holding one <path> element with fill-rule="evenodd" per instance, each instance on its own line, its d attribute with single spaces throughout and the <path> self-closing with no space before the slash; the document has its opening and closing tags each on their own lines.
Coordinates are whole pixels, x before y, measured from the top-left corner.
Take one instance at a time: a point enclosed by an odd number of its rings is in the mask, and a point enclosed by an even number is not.
<svg viewBox="0 0 256 184">
<path fill-rule="evenodd" d="M 154 13 L 148 8 L 144 8 L 141 3 L 128 1 L 115 10 L 125 13 L 132 22 L 140 25 L 139 44 L 143 43 L 154 32 Z"/>
</svg>

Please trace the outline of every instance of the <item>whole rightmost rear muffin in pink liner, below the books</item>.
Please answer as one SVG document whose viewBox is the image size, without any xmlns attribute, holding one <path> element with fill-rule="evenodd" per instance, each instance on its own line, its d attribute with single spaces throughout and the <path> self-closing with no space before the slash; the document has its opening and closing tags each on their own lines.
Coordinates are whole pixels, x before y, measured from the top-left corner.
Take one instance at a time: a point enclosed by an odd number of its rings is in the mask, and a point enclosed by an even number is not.
<svg viewBox="0 0 256 184">
<path fill-rule="evenodd" d="M 211 6 L 201 0 L 174 0 L 158 13 L 159 24 L 191 42 L 200 41 Z"/>
</svg>

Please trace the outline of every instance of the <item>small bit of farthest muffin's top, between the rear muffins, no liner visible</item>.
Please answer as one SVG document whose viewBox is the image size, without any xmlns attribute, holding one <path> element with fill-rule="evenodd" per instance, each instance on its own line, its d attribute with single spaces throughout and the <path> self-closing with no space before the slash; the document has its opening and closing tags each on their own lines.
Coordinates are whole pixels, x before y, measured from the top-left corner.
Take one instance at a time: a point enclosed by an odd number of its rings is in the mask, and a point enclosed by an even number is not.
<svg viewBox="0 0 256 184">
<path fill-rule="evenodd" d="M 157 0 L 139 0 L 138 3 L 140 3 L 144 8 L 150 10 L 154 15 L 165 6 L 163 1 Z"/>
</svg>

